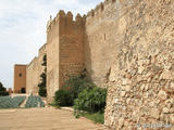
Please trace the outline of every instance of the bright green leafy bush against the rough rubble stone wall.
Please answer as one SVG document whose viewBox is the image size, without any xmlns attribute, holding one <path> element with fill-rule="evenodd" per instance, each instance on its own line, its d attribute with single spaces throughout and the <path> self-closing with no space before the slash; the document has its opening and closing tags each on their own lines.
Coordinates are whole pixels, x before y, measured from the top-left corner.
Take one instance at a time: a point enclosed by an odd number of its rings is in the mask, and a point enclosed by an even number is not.
<svg viewBox="0 0 174 130">
<path fill-rule="evenodd" d="M 83 90 L 74 102 L 76 110 L 86 110 L 89 113 L 104 112 L 107 99 L 107 89 L 87 88 Z"/>
</svg>

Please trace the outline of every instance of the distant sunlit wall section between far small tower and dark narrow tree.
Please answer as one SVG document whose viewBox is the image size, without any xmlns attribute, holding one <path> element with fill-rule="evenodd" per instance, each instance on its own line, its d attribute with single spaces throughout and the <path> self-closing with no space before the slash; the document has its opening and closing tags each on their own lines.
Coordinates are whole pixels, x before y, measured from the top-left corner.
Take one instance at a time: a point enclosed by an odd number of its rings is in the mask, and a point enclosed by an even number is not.
<svg viewBox="0 0 174 130">
<path fill-rule="evenodd" d="M 26 78 L 26 93 L 38 93 L 39 76 L 39 62 L 38 57 L 35 57 L 29 65 L 27 65 L 27 78 Z"/>
</svg>

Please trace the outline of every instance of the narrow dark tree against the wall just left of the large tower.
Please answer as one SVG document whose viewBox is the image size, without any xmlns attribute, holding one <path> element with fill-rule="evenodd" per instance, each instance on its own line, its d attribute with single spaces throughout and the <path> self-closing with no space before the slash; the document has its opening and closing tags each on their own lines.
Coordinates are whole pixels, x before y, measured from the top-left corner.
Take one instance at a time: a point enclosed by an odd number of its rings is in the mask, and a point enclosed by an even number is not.
<svg viewBox="0 0 174 130">
<path fill-rule="evenodd" d="M 47 96 L 47 55 L 46 54 L 42 57 L 41 66 L 44 66 L 45 69 L 44 69 L 44 73 L 40 75 L 41 82 L 38 84 L 39 95 L 46 98 Z"/>
</svg>

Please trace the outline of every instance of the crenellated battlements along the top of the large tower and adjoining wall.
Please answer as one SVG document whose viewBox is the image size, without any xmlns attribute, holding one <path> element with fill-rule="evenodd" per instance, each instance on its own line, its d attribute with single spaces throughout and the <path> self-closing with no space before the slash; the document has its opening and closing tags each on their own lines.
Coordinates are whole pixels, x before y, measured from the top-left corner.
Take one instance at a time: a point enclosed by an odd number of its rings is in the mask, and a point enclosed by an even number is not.
<svg viewBox="0 0 174 130">
<path fill-rule="evenodd" d="M 75 21 L 73 20 L 72 12 L 69 11 L 65 13 L 63 10 L 60 10 L 57 16 L 53 20 L 50 18 L 48 22 L 47 32 L 49 32 L 60 22 L 60 20 L 63 20 L 64 23 L 67 24 L 75 23 L 79 25 L 79 23 L 90 23 L 95 17 L 102 16 L 102 14 L 111 8 L 116 8 L 135 1 L 136 0 L 104 0 L 104 2 L 100 2 L 95 9 L 90 10 L 87 15 L 80 16 L 80 14 L 77 14 L 75 16 Z"/>
</svg>

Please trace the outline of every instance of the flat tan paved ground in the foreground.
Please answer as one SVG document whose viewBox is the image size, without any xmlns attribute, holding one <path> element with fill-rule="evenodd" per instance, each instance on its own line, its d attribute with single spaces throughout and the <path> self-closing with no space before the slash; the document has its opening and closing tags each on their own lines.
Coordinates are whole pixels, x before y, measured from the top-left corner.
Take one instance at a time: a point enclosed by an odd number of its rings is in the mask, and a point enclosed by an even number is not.
<svg viewBox="0 0 174 130">
<path fill-rule="evenodd" d="M 103 130 L 72 112 L 49 108 L 0 109 L 0 130 Z"/>
</svg>

